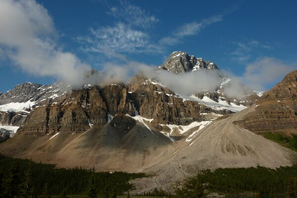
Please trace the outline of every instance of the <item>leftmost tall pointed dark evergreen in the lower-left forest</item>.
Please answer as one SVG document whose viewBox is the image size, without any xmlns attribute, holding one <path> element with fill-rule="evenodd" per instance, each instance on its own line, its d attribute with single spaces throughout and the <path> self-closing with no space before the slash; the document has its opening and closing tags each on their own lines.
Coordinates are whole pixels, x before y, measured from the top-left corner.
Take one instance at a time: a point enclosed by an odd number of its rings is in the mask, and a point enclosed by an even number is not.
<svg viewBox="0 0 297 198">
<path fill-rule="evenodd" d="M 16 162 L 9 169 L 8 175 L 3 182 L 3 197 L 14 198 L 20 196 L 20 170 Z"/>
</svg>

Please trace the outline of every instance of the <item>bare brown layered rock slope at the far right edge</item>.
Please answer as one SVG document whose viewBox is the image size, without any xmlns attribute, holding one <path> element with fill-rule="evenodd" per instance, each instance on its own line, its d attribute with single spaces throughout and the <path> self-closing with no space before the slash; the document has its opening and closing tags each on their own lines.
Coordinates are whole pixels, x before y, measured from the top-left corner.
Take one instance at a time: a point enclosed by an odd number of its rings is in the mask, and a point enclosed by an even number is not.
<svg viewBox="0 0 297 198">
<path fill-rule="evenodd" d="M 297 70 L 264 94 L 255 111 L 236 121 L 249 131 L 297 134 Z"/>
</svg>

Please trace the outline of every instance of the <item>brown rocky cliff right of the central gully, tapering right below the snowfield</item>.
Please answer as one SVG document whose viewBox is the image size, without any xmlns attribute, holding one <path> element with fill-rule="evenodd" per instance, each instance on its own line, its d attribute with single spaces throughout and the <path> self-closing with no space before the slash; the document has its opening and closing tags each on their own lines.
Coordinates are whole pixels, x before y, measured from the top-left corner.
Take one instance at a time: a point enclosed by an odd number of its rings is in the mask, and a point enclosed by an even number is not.
<svg viewBox="0 0 297 198">
<path fill-rule="evenodd" d="M 145 77 L 136 76 L 127 87 L 139 114 L 153 119 L 152 123 L 188 125 L 194 121 L 208 120 L 209 117 L 203 113 L 231 113 L 214 110 L 197 101 L 185 100 Z"/>
</svg>

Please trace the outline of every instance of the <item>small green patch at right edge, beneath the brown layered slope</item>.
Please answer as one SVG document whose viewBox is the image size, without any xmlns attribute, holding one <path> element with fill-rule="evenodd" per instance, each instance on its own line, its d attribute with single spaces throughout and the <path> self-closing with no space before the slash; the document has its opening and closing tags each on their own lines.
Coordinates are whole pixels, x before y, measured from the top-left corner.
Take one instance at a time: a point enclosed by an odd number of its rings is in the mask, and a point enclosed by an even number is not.
<svg viewBox="0 0 297 198">
<path fill-rule="evenodd" d="M 291 137 L 285 136 L 282 133 L 260 133 L 264 138 L 279 143 L 280 145 L 297 151 L 297 135 L 291 134 Z"/>
</svg>

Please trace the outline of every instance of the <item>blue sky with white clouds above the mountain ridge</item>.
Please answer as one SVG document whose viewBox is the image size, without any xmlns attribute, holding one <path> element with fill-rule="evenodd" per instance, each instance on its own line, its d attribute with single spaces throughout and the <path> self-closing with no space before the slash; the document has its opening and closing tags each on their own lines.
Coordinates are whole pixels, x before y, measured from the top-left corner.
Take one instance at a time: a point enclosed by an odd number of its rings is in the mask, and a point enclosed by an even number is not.
<svg viewBox="0 0 297 198">
<path fill-rule="evenodd" d="M 177 50 L 270 89 L 297 69 L 296 7 L 296 0 L 0 0 L 0 92 L 71 81 L 82 68 L 157 66 Z"/>
</svg>

